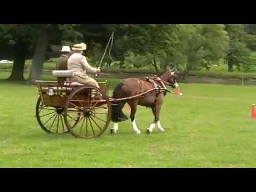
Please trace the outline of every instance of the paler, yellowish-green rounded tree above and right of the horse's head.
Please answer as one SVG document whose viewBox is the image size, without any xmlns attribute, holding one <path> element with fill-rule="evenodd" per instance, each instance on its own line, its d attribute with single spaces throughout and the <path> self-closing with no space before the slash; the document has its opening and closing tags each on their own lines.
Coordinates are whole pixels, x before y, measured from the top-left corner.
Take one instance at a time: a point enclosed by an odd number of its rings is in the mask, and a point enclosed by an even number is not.
<svg viewBox="0 0 256 192">
<path fill-rule="evenodd" d="M 173 60 L 185 65 L 184 76 L 205 62 L 225 56 L 229 38 L 224 25 L 179 25 L 177 35 L 180 43 L 174 50 Z"/>
</svg>

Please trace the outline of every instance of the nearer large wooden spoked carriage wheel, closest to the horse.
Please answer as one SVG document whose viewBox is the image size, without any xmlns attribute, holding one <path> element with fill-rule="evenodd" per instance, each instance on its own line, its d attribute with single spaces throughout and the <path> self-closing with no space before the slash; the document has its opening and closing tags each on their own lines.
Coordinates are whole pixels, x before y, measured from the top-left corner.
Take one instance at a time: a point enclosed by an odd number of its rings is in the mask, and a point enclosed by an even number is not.
<svg viewBox="0 0 256 192">
<path fill-rule="evenodd" d="M 68 110 L 74 108 L 74 111 Z M 79 121 L 73 127 L 68 117 L 79 114 Z M 111 103 L 107 95 L 96 87 L 79 87 L 68 97 L 64 107 L 65 124 L 77 138 L 100 137 L 111 121 Z"/>
</svg>

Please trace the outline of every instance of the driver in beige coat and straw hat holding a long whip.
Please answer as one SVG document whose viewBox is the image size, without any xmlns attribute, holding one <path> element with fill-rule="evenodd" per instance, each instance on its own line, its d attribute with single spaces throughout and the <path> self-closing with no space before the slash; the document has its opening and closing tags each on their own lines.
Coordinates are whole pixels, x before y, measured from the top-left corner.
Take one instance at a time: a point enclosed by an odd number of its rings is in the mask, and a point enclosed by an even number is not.
<svg viewBox="0 0 256 192">
<path fill-rule="evenodd" d="M 73 70 L 75 76 L 70 80 L 73 82 L 82 83 L 88 86 L 95 86 L 99 88 L 99 84 L 95 79 L 89 77 L 87 74 L 98 74 L 101 70 L 89 65 L 86 57 L 83 56 L 83 51 L 86 50 L 86 44 L 81 43 L 74 45 L 73 54 L 68 59 L 68 70 Z"/>
</svg>

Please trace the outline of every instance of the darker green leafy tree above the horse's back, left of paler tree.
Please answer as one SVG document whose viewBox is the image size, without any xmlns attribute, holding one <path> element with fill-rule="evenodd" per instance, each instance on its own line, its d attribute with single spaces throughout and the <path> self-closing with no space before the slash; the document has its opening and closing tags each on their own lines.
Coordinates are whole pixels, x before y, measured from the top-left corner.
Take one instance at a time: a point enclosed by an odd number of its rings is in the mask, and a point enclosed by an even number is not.
<svg viewBox="0 0 256 192">
<path fill-rule="evenodd" d="M 177 39 L 174 30 L 177 25 L 162 24 L 124 24 L 116 26 L 118 40 L 115 48 L 119 51 L 120 59 L 124 60 L 127 55 L 134 57 L 146 56 L 149 62 L 145 65 L 153 66 L 156 71 L 166 67 L 167 57 L 172 55 Z M 136 59 L 135 59 L 136 60 Z M 134 60 L 134 61 L 135 61 Z M 137 65 L 134 63 L 134 65 Z"/>
</svg>

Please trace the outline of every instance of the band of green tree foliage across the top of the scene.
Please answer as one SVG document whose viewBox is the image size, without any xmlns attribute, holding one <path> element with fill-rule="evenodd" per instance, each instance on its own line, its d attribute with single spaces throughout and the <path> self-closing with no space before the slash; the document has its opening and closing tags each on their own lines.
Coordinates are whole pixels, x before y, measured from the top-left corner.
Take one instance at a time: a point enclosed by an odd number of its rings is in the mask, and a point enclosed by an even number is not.
<svg viewBox="0 0 256 192">
<path fill-rule="evenodd" d="M 188 73 L 210 70 L 223 59 L 238 70 L 254 70 L 256 33 L 253 25 L 240 24 L 48 24 L 0 25 L 0 57 L 13 58 L 15 50 L 28 49 L 33 55 L 39 31 L 47 29 L 50 45 L 84 42 L 84 52 L 93 66 L 99 66 L 111 32 L 115 32 L 110 63 L 107 52 L 102 67 L 163 70 L 167 66 Z M 50 50 L 50 49 L 49 49 Z M 108 50 L 109 51 L 109 50 Z M 52 54 L 58 57 L 58 50 Z M 5 58 L 6 57 L 6 58 Z M 231 68 L 230 67 L 230 68 Z"/>
</svg>

